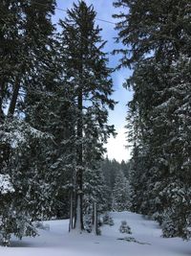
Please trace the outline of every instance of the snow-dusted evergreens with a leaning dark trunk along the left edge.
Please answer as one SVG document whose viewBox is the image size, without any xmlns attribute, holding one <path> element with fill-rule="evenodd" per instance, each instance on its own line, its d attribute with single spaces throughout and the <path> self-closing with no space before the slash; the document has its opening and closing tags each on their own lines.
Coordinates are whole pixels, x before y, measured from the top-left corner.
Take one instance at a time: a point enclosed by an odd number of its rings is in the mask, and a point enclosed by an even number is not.
<svg viewBox="0 0 191 256">
<path fill-rule="evenodd" d="M 40 70 L 48 70 L 49 67 L 47 61 L 53 32 L 51 14 L 54 4 L 53 1 L 49 5 L 45 1 L 41 1 L 41 4 L 46 5 L 39 7 L 32 1 L 1 2 L 5 16 L 1 16 L 3 56 L 0 65 L 3 73 L 0 76 L 0 104 L 3 119 L 0 128 L 0 165 L 2 175 L 11 177 L 14 189 L 11 196 L 8 195 L 9 199 L 5 198 L 2 202 L 4 207 L 0 211 L 1 232 L 8 244 L 11 234 L 19 238 L 35 235 L 32 221 L 49 212 L 44 202 L 47 194 L 50 195 L 50 186 L 45 169 L 39 169 L 37 164 L 40 145 L 42 143 L 45 147 L 49 136 L 24 120 L 26 109 L 23 105 L 30 91 L 42 86 L 39 85 L 42 79 Z M 8 114 L 3 112 L 5 107 Z M 42 195 L 45 194 L 44 198 Z"/>
</svg>

